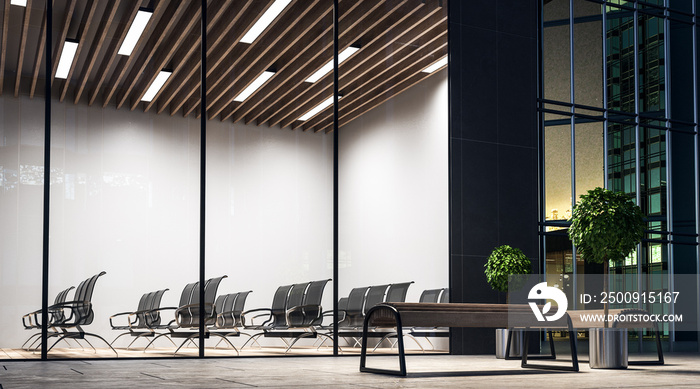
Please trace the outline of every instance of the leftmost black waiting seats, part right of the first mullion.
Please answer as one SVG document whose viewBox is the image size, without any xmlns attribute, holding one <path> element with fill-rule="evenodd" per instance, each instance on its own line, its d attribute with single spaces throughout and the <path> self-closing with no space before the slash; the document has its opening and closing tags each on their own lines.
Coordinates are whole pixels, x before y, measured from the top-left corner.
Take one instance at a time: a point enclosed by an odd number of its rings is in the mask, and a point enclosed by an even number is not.
<svg viewBox="0 0 700 389">
<path fill-rule="evenodd" d="M 63 311 L 61 313 L 63 319 L 56 320 L 51 324 L 52 327 L 59 329 L 60 332 L 49 335 L 49 337 L 58 337 L 58 340 L 56 340 L 46 352 L 51 351 L 51 349 L 58 342 L 64 339 L 84 339 L 87 344 L 90 345 L 90 347 L 95 349 L 95 347 L 93 347 L 92 344 L 85 339 L 86 336 L 92 336 L 105 342 L 105 344 L 107 344 L 107 346 L 109 346 L 109 348 L 114 352 L 114 354 L 119 356 L 112 345 L 110 345 L 109 342 L 107 342 L 103 337 L 97 334 L 85 332 L 82 328 L 92 324 L 92 321 L 95 318 L 95 312 L 92 309 L 91 302 L 92 293 L 95 290 L 97 279 L 105 274 L 107 273 L 100 272 L 99 274 L 96 274 L 81 282 L 75 289 L 73 301 L 64 301 L 49 307 L 49 312 L 57 312 L 59 310 Z"/>
</svg>

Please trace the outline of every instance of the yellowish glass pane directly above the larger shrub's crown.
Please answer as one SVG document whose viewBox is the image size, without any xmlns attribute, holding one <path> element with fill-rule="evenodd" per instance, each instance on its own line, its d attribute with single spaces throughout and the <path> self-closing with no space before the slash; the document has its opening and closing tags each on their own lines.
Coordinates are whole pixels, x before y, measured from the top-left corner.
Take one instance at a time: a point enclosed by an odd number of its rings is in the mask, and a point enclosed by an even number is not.
<svg viewBox="0 0 700 389">
<path fill-rule="evenodd" d="M 605 186 L 604 133 L 603 122 L 585 122 L 579 119 L 575 124 L 576 201 L 589 190 Z"/>
</svg>

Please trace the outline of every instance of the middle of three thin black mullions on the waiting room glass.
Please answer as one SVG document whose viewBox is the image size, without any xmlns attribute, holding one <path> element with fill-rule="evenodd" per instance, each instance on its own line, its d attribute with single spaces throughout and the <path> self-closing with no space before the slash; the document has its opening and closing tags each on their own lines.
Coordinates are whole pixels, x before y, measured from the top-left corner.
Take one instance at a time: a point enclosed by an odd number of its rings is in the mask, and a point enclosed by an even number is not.
<svg viewBox="0 0 700 389">
<path fill-rule="evenodd" d="M 205 272 L 205 211 L 207 191 L 207 0 L 202 0 L 201 47 L 202 65 L 199 72 L 202 77 L 199 93 L 200 110 L 200 145 L 199 145 L 199 357 L 204 357 L 204 272 Z"/>
</svg>

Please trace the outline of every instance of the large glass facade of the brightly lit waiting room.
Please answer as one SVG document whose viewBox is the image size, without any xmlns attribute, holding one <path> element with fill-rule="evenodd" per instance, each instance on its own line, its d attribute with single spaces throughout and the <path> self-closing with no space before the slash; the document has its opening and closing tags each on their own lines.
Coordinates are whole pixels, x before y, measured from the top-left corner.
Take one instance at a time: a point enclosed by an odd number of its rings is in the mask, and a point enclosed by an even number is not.
<svg viewBox="0 0 700 389">
<path fill-rule="evenodd" d="M 203 3 L 0 8 L 0 359 L 359 353 L 448 287 L 447 1 Z"/>
</svg>

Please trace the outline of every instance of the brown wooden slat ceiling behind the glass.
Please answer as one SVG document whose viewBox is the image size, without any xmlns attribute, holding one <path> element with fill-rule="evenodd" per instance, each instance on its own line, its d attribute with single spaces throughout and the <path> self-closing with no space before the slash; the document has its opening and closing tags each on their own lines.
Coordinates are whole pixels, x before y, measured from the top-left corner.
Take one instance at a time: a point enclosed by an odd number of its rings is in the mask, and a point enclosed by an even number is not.
<svg viewBox="0 0 700 389">
<path fill-rule="evenodd" d="M 53 0 L 54 98 L 153 114 L 201 115 L 199 1 Z M 46 77 L 44 0 L 27 7 L 0 0 L 0 93 L 39 95 Z M 333 93 L 333 73 L 305 80 L 333 58 L 332 1 L 292 0 L 252 44 L 239 40 L 273 0 L 210 0 L 207 107 L 210 120 L 330 132 L 329 107 L 303 114 Z M 340 0 L 340 51 L 360 50 L 340 65 L 340 125 L 419 83 L 447 55 L 446 0 Z M 139 7 L 153 16 L 130 56 L 117 51 Z M 56 79 L 63 42 L 78 50 L 67 80 Z M 142 102 L 159 71 L 173 72 Z M 275 75 L 243 102 L 234 97 L 263 71 Z M 435 73 L 432 73 L 435 74 Z"/>
</svg>

